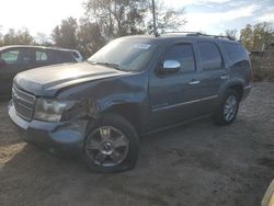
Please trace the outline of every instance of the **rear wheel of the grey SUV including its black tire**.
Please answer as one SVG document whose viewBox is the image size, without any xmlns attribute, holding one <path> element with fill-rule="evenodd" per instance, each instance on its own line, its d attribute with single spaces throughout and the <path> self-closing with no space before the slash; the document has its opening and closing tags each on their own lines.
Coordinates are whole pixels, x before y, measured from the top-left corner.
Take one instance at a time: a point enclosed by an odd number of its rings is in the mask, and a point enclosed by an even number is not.
<svg viewBox="0 0 274 206">
<path fill-rule="evenodd" d="M 230 103 L 229 103 L 230 102 Z M 233 102 L 233 103 L 232 103 Z M 228 89 L 213 115 L 216 125 L 230 125 L 235 122 L 239 110 L 239 95 L 235 90 Z M 229 105 L 230 108 L 229 108 Z M 228 112 L 230 110 L 230 112 Z M 230 115 L 228 114 L 230 113 Z"/>
</svg>

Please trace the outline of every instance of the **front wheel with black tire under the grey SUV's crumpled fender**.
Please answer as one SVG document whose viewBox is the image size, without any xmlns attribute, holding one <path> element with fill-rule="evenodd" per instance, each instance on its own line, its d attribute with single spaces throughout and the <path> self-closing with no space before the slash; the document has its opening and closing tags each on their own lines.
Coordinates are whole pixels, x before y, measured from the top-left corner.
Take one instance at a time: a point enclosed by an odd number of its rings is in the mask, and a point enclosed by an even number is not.
<svg viewBox="0 0 274 206">
<path fill-rule="evenodd" d="M 138 154 L 138 135 L 134 126 L 119 115 L 103 115 L 87 133 L 84 158 L 92 172 L 130 170 Z"/>
</svg>

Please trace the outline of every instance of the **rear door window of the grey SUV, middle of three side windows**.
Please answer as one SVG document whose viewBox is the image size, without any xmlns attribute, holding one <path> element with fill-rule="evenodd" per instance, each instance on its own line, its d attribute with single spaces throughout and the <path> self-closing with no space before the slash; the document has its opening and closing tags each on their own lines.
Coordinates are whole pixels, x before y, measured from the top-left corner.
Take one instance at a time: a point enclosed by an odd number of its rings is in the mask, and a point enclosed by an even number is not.
<svg viewBox="0 0 274 206">
<path fill-rule="evenodd" d="M 202 69 L 207 70 L 217 70 L 221 69 L 221 56 L 220 52 L 215 43 L 210 42 L 199 42 L 199 60 Z"/>
</svg>

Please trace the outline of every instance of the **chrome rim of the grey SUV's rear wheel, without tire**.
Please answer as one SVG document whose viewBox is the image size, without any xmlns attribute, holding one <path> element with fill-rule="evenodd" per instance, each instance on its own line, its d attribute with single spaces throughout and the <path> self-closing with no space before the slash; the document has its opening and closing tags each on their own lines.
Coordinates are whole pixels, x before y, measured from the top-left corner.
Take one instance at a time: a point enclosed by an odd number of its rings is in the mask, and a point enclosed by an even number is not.
<svg viewBox="0 0 274 206">
<path fill-rule="evenodd" d="M 222 111 L 225 119 L 227 122 L 230 122 L 231 119 L 233 119 L 236 116 L 237 110 L 238 110 L 237 98 L 235 95 L 228 96 L 228 99 L 225 102 L 224 111 Z"/>
</svg>

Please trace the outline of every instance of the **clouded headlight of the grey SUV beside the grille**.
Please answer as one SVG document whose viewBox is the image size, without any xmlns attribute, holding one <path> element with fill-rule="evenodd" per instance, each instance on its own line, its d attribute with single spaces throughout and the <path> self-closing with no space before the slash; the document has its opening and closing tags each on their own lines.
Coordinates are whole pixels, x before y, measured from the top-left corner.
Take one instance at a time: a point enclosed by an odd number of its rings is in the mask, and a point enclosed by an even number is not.
<svg viewBox="0 0 274 206">
<path fill-rule="evenodd" d="M 60 122 L 61 115 L 69 104 L 68 101 L 39 98 L 36 101 L 34 118 L 45 122 Z"/>
</svg>

